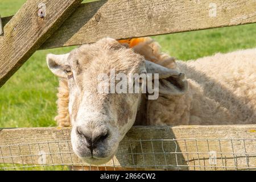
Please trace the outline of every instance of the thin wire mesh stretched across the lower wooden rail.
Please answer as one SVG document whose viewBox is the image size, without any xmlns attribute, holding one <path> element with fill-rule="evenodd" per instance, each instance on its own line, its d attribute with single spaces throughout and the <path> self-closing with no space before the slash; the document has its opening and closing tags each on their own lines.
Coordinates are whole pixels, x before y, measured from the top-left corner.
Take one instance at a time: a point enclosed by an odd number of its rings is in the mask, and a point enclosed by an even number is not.
<svg viewBox="0 0 256 182">
<path fill-rule="evenodd" d="M 256 139 L 124 140 L 101 166 L 82 162 L 70 140 L 0 146 L 0 170 L 255 170 Z"/>
</svg>

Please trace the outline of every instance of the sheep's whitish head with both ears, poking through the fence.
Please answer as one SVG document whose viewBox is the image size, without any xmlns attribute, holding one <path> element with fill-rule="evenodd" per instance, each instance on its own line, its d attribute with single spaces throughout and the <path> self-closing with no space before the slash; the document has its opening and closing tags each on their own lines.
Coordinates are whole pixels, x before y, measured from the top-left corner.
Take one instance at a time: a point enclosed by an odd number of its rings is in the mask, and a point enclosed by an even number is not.
<svg viewBox="0 0 256 182">
<path fill-rule="evenodd" d="M 156 74 L 153 85 L 157 85 L 159 92 L 156 90 L 155 96 L 170 92 L 182 94 L 187 89 L 182 73 L 145 61 L 133 49 L 110 38 L 85 44 L 65 55 L 49 54 L 47 64 L 60 79 L 67 79 L 73 151 L 90 164 L 112 159 L 119 142 L 134 124 L 145 83 L 129 79 L 130 76 Z M 113 79 L 120 81 L 112 77 L 113 72 L 127 76 L 129 85 L 138 83 L 139 92 L 118 92 L 118 81 L 114 82 L 112 92 Z M 162 81 L 156 84 L 158 74 Z M 152 79 L 147 80 L 152 83 Z"/>
</svg>

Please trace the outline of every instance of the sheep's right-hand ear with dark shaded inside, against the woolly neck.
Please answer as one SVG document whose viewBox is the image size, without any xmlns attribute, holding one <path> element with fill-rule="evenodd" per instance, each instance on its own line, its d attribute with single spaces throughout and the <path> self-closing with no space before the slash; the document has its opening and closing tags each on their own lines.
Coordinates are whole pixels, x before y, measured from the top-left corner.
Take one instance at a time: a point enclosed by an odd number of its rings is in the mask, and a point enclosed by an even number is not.
<svg viewBox="0 0 256 182">
<path fill-rule="evenodd" d="M 154 73 L 159 74 L 159 94 L 181 96 L 187 92 L 188 81 L 184 73 L 162 67 L 150 61 L 146 61 L 146 69 L 147 73 L 152 73 L 152 75 Z"/>
</svg>

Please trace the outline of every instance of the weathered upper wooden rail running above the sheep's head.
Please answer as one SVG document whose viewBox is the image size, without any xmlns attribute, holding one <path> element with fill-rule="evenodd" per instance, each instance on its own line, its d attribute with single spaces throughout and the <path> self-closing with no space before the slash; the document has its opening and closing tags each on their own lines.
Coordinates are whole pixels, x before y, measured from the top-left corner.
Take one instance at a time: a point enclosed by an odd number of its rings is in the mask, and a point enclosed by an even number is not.
<svg viewBox="0 0 256 182">
<path fill-rule="evenodd" d="M 82 4 L 40 48 L 92 43 L 106 36 L 127 39 L 255 22 L 256 0 L 98 1 Z"/>
</svg>

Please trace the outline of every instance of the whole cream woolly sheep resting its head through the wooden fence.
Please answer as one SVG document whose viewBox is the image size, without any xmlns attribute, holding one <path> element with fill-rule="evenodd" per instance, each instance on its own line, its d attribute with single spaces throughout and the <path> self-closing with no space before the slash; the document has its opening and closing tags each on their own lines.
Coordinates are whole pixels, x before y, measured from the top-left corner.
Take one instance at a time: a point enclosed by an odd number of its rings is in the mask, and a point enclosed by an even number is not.
<svg viewBox="0 0 256 182">
<path fill-rule="evenodd" d="M 133 125 L 228 125 L 256 122 L 256 49 L 175 61 L 143 38 L 131 47 L 111 38 L 65 55 L 47 55 L 60 77 L 59 126 L 71 126 L 73 151 L 85 162 L 108 162 Z M 98 93 L 98 74 L 158 73 L 159 97 Z M 185 77 L 186 76 L 186 77 Z M 155 78 L 150 82 L 156 84 Z"/>
</svg>

